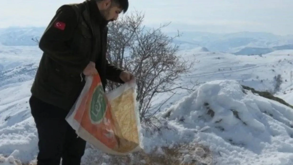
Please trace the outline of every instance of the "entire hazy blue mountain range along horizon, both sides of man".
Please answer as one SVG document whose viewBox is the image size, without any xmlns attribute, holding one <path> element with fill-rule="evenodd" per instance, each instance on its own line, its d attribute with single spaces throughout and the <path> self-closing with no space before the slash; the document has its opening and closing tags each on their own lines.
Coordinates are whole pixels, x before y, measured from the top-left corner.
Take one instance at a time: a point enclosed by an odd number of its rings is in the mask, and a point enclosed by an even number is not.
<svg viewBox="0 0 293 165">
<path fill-rule="evenodd" d="M 45 27 L 10 27 L 0 29 L 0 43 L 6 46 L 35 46 L 32 40 L 40 39 Z M 178 32 L 168 32 L 169 36 L 176 36 Z M 261 32 L 240 33 L 206 33 L 180 32 L 181 36 L 174 40 L 180 44 L 181 50 L 195 47 L 206 47 L 212 52 L 229 52 L 237 55 L 266 54 L 275 50 L 293 49 L 293 35 L 274 35 Z"/>
</svg>

